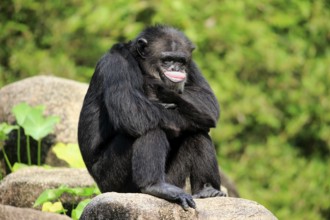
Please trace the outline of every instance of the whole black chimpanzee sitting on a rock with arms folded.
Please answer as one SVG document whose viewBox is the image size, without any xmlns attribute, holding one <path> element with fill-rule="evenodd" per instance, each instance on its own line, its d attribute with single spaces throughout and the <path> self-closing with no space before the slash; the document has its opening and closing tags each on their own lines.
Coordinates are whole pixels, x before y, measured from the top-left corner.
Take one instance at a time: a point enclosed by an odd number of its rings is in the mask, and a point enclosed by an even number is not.
<svg viewBox="0 0 330 220">
<path fill-rule="evenodd" d="M 102 192 L 147 193 L 184 209 L 195 208 L 193 197 L 225 195 L 208 134 L 219 105 L 193 49 L 178 30 L 155 26 L 98 62 L 78 141 Z M 187 177 L 192 195 L 183 190 Z"/>
</svg>

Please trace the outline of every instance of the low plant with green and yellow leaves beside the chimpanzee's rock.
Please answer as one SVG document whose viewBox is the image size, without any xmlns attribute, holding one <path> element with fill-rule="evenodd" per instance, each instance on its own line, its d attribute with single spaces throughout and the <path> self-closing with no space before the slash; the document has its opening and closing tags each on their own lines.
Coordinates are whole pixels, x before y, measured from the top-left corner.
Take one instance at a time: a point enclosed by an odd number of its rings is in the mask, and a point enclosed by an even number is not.
<svg viewBox="0 0 330 220">
<path fill-rule="evenodd" d="M 66 209 L 64 209 L 60 198 L 63 193 L 68 193 L 73 196 L 80 197 L 91 197 L 100 194 L 100 190 L 97 186 L 94 187 L 82 187 L 82 188 L 70 188 L 68 186 L 62 185 L 56 189 L 47 189 L 43 191 L 40 196 L 35 201 L 33 207 L 42 205 L 42 211 L 56 212 L 66 214 Z M 53 201 L 56 201 L 53 203 Z M 78 203 L 75 209 L 71 212 L 71 217 L 73 220 L 80 218 L 84 208 L 91 201 L 90 198 L 84 199 Z"/>
</svg>

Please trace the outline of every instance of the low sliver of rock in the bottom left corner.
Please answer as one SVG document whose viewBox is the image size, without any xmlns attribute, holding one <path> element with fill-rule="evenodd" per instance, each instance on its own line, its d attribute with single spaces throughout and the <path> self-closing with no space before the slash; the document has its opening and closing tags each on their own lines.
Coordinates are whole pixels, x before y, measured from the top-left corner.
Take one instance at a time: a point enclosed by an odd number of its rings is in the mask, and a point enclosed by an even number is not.
<svg viewBox="0 0 330 220">
<path fill-rule="evenodd" d="M 0 205 L 0 217 L 1 220 L 36 220 L 36 219 L 47 219 L 47 220 L 69 220 L 66 215 L 60 215 L 55 213 L 41 212 L 34 209 L 28 208 L 16 208 L 7 205 Z"/>
</svg>

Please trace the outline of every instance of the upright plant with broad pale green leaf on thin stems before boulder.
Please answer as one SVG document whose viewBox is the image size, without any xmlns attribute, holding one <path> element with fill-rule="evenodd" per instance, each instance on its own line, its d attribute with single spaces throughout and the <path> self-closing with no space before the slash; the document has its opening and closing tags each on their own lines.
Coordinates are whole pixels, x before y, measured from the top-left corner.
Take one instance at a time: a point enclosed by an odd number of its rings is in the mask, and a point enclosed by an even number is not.
<svg viewBox="0 0 330 220">
<path fill-rule="evenodd" d="M 13 114 L 15 115 L 16 122 L 24 129 L 26 135 L 26 151 L 28 165 L 31 165 L 31 153 L 30 153 L 30 136 L 38 142 L 38 158 L 37 165 L 41 165 L 41 140 L 48 134 L 53 132 L 54 126 L 59 122 L 58 116 L 44 117 L 43 112 L 45 106 L 39 105 L 31 107 L 26 103 L 21 103 L 13 108 Z M 21 161 L 20 157 L 20 129 L 17 133 L 17 160 Z"/>
</svg>

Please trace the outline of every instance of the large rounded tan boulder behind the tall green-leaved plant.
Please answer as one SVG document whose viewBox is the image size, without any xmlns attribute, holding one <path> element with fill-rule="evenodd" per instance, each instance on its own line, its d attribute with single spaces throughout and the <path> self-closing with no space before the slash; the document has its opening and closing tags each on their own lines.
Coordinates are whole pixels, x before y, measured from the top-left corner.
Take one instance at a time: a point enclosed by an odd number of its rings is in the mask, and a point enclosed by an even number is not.
<svg viewBox="0 0 330 220">
<path fill-rule="evenodd" d="M 77 129 L 79 114 L 85 97 L 88 84 L 73 80 L 53 77 L 35 76 L 9 84 L 0 89 L 0 123 L 14 123 L 12 108 L 22 102 L 31 106 L 44 105 L 44 114 L 59 116 L 61 121 L 55 126 L 54 135 L 49 135 L 42 141 L 42 163 L 52 166 L 67 166 L 67 163 L 58 159 L 50 150 L 57 142 L 77 143 Z M 13 131 L 6 141 L 5 149 L 9 160 L 17 161 L 16 141 L 17 132 Z M 31 155 L 37 155 L 37 142 L 30 139 Z M 21 146 L 25 146 L 25 136 L 21 135 Z M 27 163 L 26 148 L 21 147 L 21 158 Z M 0 160 L 2 155 L 0 154 Z M 37 157 L 32 157 L 36 164 Z M 7 169 L 0 165 L 0 172 L 7 173 Z"/>
</svg>

